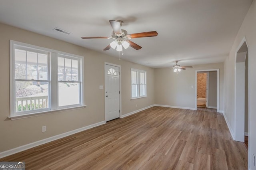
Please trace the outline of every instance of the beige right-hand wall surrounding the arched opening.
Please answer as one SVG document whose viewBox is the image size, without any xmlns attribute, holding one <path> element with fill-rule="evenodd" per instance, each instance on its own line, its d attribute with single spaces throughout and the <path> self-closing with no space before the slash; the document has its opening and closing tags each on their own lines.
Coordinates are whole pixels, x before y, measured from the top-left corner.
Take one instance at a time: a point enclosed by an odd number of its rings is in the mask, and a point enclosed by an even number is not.
<svg viewBox="0 0 256 170">
<path fill-rule="evenodd" d="M 248 74 L 249 74 L 249 166 L 251 169 L 256 169 L 252 165 L 252 154 L 256 155 L 256 1 L 252 2 L 250 9 L 242 26 L 236 36 L 229 56 L 224 62 L 224 114 L 227 117 L 231 130 L 234 132 L 235 127 L 235 115 L 234 115 L 234 92 L 235 92 L 235 56 L 236 50 L 242 39 L 246 37 L 248 43 Z"/>
</svg>

